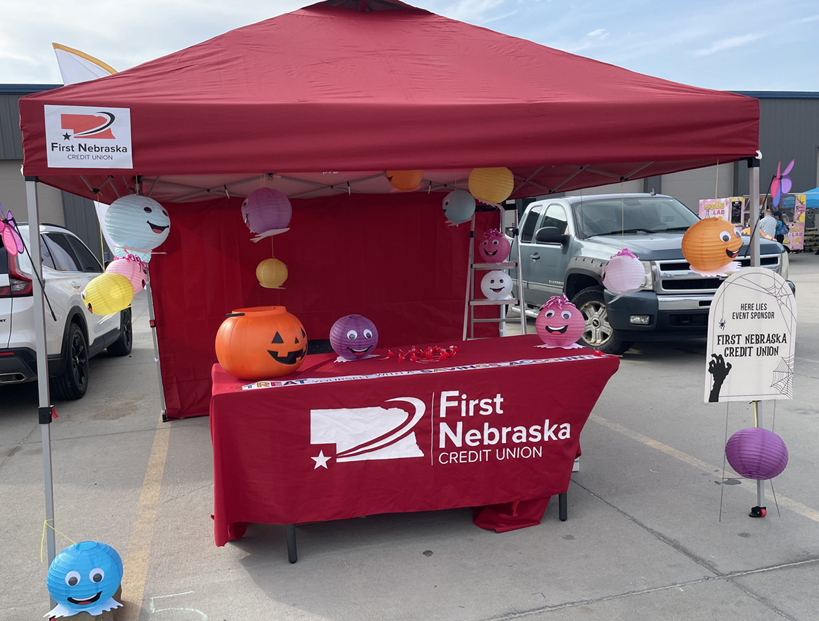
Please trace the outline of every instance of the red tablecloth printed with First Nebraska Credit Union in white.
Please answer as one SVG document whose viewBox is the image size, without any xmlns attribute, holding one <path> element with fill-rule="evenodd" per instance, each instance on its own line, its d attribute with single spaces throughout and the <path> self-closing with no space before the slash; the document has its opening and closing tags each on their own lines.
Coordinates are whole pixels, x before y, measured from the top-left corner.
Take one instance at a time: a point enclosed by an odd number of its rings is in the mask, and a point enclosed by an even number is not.
<svg viewBox="0 0 819 621">
<path fill-rule="evenodd" d="M 247 522 L 501 503 L 511 504 L 477 512 L 476 524 L 537 524 L 568 489 L 583 425 L 619 364 L 540 343 L 470 340 L 455 358 L 423 363 L 384 349 L 355 362 L 316 354 L 257 383 L 215 365 L 216 545 L 242 537 Z"/>
</svg>

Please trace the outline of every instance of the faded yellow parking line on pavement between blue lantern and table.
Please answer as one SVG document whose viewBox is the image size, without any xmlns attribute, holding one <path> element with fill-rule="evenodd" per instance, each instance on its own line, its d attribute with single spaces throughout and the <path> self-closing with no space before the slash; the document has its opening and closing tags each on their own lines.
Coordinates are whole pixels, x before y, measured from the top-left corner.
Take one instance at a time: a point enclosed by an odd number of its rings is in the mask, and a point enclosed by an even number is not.
<svg viewBox="0 0 819 621">
<path fill-rule="evenodd" d="M 139 619 L 169 439 L 170 425 L 160 421 L 156 425 L 151 457 L 148 458 L 143 489 L 139 494 L 137 513 L 133 518 L 131 537 L 128 541 L 128 555 L 125 556 L 123 562 L 122 599 L 124 607 L 122 614 L 117 616 L 120 621 L 138 621 Z"/>
</svg>

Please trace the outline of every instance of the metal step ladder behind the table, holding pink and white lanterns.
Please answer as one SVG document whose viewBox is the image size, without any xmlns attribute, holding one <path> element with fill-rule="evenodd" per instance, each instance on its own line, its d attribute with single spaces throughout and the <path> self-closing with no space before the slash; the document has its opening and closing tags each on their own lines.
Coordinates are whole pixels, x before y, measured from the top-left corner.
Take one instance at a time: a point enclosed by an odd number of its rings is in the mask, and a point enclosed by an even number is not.
<svg viewBox="0 0 819 621">
<path fill-rule="evenodd" d="M 500 232 L 504 232 L 504 214 L 506 210 L 501 205 L 496 205 L 500 212 Z M 505 335 L 505 323 L 520 321 L 521 334 L 526 334 L 526 313 L 520 313 L 520 317 L 506 317 L 506 306 L 515 306 L 521 309 L 526 308 L 523 301 L 523 281 L 521 280 L 520 269 L 520 244 L 518 244 L 518 209 L 513 210 L 514 218 L 512 225 L 512 245 L 514 246 L 514 261 L 505 261 L 504 263 L 475 263 L 475 216 L 472 217 L 472 227 L 469 230 L 469 264 L 468 277 L 466 284 L 466 300 L 464 303 L 464 339 L 475 339 L 475 324 L 476 323 L 497 323 L 498 335 Z M 511 257 L 510 257 L 511 259 Z M 509 270 L 514 268 L 515 278 L 518 286 L 517 298 L 506 299 L 486 299 L 485 297 L 475 297 L 475 272 L 488 272 L 490 270 L 500 269 L 505 270 L 508 274 Z M 511 275 L 510 275 L 511 276 Z M 476 306 L 497 306 L 499 308 L 500 317 L 481 317 L 475 318 Z"/>
</svg>

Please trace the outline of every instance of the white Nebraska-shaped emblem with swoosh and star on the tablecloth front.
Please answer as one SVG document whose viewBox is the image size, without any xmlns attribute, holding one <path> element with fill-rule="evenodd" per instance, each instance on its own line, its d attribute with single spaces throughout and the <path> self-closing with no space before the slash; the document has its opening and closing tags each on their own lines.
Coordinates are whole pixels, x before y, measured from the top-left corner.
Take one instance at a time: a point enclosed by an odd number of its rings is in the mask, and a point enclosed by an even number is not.
<svg viewBox="0 0 819 621">
<path fill-rule="evenodd" d="M 419 398 L 387 399 L 409 404 L 405 407 L 342 407 L 310 410 L 310 443 L 335 444 L 335 455 L 319 451 L 314 468 L 327 468 L 327 462 L 363 461 L 423 457 L 412 430 L 423 418 L 427 407 Z M 407 416 L 409 414 L 409 416 Z"/>
</svg>

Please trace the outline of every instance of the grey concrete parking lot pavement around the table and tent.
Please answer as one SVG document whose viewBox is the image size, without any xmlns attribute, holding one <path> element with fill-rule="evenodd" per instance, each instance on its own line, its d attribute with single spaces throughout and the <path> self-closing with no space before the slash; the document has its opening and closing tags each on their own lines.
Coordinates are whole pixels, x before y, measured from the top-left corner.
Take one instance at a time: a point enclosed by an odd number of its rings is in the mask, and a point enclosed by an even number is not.
<svg viewBox="0 0 819 621">
<path fill-rule="evenodd" d="M 791 254 L 794 399 L 763 402 L 790 461 L 749 517 L 756 484 L 726 470 L 728 433 L 751 406 L 703 403 L 704 340 L 637 345 L 581 435 L 566 522 L 494 533 L 469 509 L 297 527 L 251 524 L 215 547 L 206 417 L 160 421 L 147 299 L 127 358 L 94 359 L 88 394 L 57 403 L 57 550 L 95 539 L 125 562 L 129 621 L 817 618 L 819 256 Z M 544 398 L 559 385 L 544 386 Z M 34 385 L 0 387 L 0 619 L 49 608 L 40 561 L 43 458 Z M 726 412 L 727 411 L 727 412 Z M 727 415 L 727 421 L 726 421 Z M 777 510 L 778 506 L 778 510 Z"/>
</svg>

